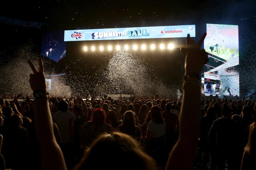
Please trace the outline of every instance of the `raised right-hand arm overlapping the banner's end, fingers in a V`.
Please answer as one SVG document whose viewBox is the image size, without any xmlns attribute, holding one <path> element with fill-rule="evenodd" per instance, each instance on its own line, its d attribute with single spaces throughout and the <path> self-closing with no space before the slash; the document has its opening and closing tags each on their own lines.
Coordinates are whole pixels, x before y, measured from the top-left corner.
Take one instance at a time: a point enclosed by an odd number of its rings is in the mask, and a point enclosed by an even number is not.
<svg viewBox="0 0 256 170">
<path fill-rule="evenodd" d="M 195 44 L 188 35 L 186 45 L 194 48 L 186 51 L 183 97 L 180 111 L 180 136 L 169 156 L 166 170 L 192 170 L 200 127 L 200 83 L 199 74 L 208 61 L 207 53 L 200 50 L 206 37 Z"/>
</svg>

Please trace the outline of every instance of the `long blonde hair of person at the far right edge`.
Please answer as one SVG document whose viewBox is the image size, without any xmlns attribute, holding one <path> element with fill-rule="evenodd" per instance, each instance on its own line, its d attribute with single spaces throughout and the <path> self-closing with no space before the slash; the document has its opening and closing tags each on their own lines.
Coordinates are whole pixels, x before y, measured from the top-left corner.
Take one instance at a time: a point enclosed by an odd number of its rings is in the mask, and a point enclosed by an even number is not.
<svg viewBox="0 0 256 170">
<path fill-rule="evenodd" d="M 250 133 L 247 145 L 244 147 L 244 151 L 249 154 L 256 154 L 256 122 L 254 121 L 250 125 Z"/>
</svg>

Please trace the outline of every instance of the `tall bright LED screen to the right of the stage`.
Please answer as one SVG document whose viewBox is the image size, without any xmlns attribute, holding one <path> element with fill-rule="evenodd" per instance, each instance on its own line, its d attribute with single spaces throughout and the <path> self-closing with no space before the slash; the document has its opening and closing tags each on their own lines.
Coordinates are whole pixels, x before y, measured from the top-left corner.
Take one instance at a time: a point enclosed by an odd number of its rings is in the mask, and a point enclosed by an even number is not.
<svg viewBox="0 0 256 170">
<path fill-rule="evenodd" d="M 205 96 L 239 96 L 238 25 L 206 24 L 209 62 L 202 76 Z"/>
</svg>

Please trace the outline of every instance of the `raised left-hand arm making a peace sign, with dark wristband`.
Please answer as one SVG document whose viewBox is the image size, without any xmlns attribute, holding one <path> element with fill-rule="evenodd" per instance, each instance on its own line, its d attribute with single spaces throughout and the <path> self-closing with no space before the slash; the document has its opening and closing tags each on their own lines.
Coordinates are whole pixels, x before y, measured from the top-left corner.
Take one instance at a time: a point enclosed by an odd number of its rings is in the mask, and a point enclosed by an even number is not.
<svg viewBox="0 0 256 170">
<path fill-rule="evenodd" d="M 30 74 L 30 86 L 33 90 L 34 116 L 36 135 L 39 142 L 41 162 L 43 170 L 66 170 L 66 164 L 59 145 L 56 142 L 53 132 L 52 117 L 48 105 L 48 93 L 44 78 L 44 66 L 39 59 L 39 70 L 28 61 L 33 74 Z"/>
</svg>

